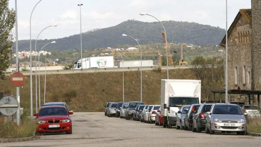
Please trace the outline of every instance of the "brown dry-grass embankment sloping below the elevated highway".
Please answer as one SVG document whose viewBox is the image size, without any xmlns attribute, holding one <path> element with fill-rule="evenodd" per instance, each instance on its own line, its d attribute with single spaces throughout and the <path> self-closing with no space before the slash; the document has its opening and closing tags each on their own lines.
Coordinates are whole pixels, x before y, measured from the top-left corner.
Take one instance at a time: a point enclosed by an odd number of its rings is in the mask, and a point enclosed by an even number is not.
<svg viewBox="0 0 261 147">
<path fill-rule="evenodd" d="M 166 71 L 142 72 L 142 100 L 146 104 L 160 104 L 160 80 L 166 78 Z M 34 76 L 33 76 L 34 77 Z M 195 79 L 190 69 L 169 70 L 171 79 Z M 21 106 L 30 109 L 30 76 L 25 77 L 25 84 L 20 88 Z M 41 79 L 41 103 L 44 96 L 44 75 Z M 125 101 L 140 100 L 140 73 L 124 73 Z M 33 78 L 33 94 L 35 84 Z M 0 80 L 0 91 L 15 95 L 9 77 Z M 33 95 L 35 107 L 35 95 Z M 96 72 L 47 75 L 46 102 L 66 102 L 70 110 L 97 112 L 104 111 L 108 101 L 122 101 L 122 72 Z"/>
</svg>

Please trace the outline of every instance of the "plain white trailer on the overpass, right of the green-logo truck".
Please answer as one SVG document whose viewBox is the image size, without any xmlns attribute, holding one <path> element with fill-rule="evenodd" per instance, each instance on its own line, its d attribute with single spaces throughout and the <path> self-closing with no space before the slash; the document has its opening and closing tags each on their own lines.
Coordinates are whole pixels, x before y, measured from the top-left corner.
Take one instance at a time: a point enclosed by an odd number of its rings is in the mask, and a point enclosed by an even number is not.
<svg viewBox="0 0 261 147">
<path fill-rule="evenodd" d="M 140 60 L 131 60 L 131 61 L 120 61 L 118 62 L 118 67 L 140 67 Z M 152 67 L 153 60 L 142 60 L 142 67 Z"/>
</svg>

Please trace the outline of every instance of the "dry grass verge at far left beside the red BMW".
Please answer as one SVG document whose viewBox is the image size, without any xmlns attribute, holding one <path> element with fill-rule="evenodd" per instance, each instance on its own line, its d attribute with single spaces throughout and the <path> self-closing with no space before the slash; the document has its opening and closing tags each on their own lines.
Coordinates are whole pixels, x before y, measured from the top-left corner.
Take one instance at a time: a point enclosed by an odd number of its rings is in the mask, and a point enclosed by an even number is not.
<svg viewBox="0 0 261 147">
<path fill-rule="evenodd" d="M 20 125 L 17 126 L 16 122 L 10 122 L 0 125 L 0 138 L 22 138 L 31 137 L 36 130 L 36 121 L 27 118 L 28 113 L 21 116 Z"/>
</svg>

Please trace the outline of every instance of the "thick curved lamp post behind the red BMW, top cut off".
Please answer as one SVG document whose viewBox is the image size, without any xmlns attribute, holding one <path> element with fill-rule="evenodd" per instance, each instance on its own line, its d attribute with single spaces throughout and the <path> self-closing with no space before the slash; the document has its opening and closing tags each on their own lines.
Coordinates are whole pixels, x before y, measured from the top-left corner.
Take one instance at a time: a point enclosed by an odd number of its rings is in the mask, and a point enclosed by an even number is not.
<svg viewBox="0 0 261 147">
<path fill-rule="evenodd" d="M 31 18 L 32 14 L 34 12 L 35 7 L 41 2 L 42 0 L 39 0 L 36 5 L 34 6 L 31 15 L 30 15 L 30 116 L 33 116 L 33 82 L 32 82 L 32 35 L 31 35 Z M 35 79 L 36 80 L 36 79 Z"/>
</svg>

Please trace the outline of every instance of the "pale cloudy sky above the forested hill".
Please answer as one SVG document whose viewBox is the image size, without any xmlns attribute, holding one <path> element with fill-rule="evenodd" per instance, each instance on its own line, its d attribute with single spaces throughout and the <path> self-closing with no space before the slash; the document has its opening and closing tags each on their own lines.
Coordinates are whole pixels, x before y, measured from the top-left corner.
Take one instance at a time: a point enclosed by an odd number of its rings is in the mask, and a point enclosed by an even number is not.
<svg viewBox="0 0 261 147">
<path fill-rule="evenodd" d="M 38 1 L 17 0 L 19 40 L 29 39 L 30 14 Z M 161 21 L 188 21 L 225 29 L 225 0 L 42 0 L 32 16 L 32 38 L 35 39 L 43 28 L 53 24 L 58 26 L 42 32 L 39 39 L 79 34 L 77 4 L 83 4 L 82 32 L 115 26 L 130 19 L 155 21 L 147 15 L 140 16 L 140 12 L 154 15 Z M 9 0 L 9 7 L 15 8 L 15 0 Z M 251 0 L 228 0 L 229 26 L 242 8 L 251 8 Z"/>
</svg>

